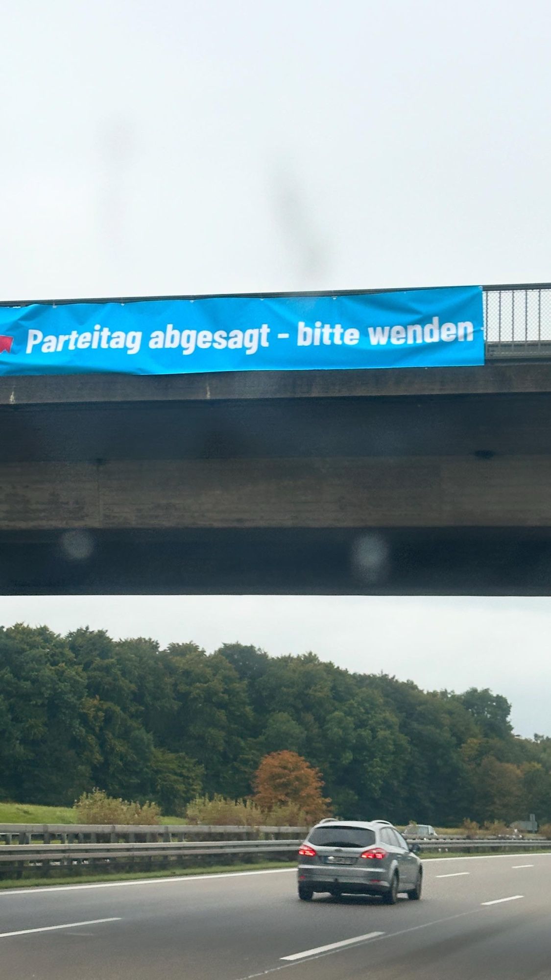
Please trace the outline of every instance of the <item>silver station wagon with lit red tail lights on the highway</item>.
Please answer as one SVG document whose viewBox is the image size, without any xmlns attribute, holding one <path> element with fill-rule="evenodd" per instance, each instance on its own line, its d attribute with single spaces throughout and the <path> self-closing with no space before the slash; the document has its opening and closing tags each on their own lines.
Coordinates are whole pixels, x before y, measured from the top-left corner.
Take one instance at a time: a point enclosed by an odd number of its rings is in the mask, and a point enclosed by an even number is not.
<svg viewBox="0 0 551 980">
<path fill-rule="evenodd" d="M 412 845 L 415 848 L 415 845 Z M 421 898 L 423 864 L 386 820 L 323 820 L 299 849 L 298 895 L 379 895 L 394 905 L 399 892 Z"/>
</svg>

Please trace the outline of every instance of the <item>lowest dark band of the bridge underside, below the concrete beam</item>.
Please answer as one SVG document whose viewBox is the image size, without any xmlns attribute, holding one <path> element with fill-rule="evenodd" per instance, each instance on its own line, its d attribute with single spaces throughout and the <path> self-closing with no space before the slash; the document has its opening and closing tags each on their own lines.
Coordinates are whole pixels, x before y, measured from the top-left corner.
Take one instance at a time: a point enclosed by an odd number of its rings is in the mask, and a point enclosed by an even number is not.
<svg viewBox="0 0 551 980">
<path fill-rule="evenodd" d="M 81 558 L 58 532 L 3 534 L 0 592 L 551 594 L 551 532 L 541 528 L 102 530 L 88 543 Z"/>
</svg>

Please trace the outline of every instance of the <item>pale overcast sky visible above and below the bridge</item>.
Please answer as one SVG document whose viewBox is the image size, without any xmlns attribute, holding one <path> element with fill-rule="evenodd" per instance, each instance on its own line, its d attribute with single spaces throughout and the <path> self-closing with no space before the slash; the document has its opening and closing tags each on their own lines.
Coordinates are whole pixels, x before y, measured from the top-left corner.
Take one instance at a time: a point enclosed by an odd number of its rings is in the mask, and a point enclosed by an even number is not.
<svg viewBox="0 0 551 980">
<path fill-rule="evenodd" d="M 4 4 L 0 299 L 551 279 L 550 18 L 548 0 Z M 551 734 L 546 600 L 0 612 L 489 685 Z"/>
</svg>

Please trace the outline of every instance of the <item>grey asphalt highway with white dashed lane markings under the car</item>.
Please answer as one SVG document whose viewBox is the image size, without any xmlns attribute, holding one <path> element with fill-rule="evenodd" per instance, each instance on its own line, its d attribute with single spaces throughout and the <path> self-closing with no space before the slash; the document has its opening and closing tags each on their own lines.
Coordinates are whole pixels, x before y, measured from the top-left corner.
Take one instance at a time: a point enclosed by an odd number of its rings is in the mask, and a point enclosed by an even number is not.
<svg viewBox="0 0 551 980">
<path fill-rule="evenodd" d="M 9 980 L 549 980 L 551 854 L 425 861 L 421 902 L 271 870 L 0 892 Z"/>
</svg>

